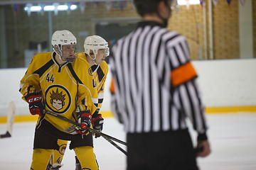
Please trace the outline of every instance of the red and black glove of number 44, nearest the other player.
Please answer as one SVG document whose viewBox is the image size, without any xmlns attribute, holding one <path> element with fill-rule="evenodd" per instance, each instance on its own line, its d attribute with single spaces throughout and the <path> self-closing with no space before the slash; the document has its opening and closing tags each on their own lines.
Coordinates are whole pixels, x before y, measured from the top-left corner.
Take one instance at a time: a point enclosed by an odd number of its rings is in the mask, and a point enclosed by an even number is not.
<svg viewBox="0 0 256 170">
<path fill-rule="evenodd" d="M 81 127 L 76 126 L 75 132 L 85 135 L 88 132 L 87 127 L 90 128 L 92 115 L 90 114 L 89 111 L 81 111 L 81 112 L 78 112 L 77 115 L 78 115 L 78 123 L 81 124 Z"/>
</svg>

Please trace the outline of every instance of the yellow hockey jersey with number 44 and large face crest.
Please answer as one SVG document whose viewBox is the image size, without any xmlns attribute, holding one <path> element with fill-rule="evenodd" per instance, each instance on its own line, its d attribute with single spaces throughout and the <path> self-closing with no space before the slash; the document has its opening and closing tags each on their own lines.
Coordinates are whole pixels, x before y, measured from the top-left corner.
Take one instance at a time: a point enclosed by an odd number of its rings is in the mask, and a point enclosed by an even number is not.
<svg viewBox="0 0 256 170">
<path fill-rule="evenodd" d="M 23 100 L 27 94 L 41 91 L 45 109 L 69 120 L 77 120 L 75 110 L 95 113 L 97 89 L 92 86 L 94 79 L 86 72 L 86 64 L 78 57 L 72 63 L 60 65 L 55 61 L 55 52 L 35 55 L 21 79 Z M 73 124 L 48 114 L 44 118 L 58 130 L 76 134 Z"/>
</svg>

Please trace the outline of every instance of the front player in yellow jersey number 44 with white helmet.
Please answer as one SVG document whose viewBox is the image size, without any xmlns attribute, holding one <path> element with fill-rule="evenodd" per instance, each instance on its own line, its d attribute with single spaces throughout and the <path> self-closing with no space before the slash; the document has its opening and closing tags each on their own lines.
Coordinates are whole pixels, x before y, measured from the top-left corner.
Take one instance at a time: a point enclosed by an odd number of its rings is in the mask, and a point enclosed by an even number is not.
<svg viewBox="0 0 256 170">
<path fill-rule="evenodd" d="M 22 98 L 28 102 L 31 114 L 39 115 L 31 170 L 46 169 L 53 149 L 60 149 L 58 139 L 71 141 L 70 149 L 83 169 L 98 169 L 92 134 L 86 130 L 97 110 L 97 89 L 92 86 L 93 77 L 85 72 L 85 60 L 78 57 L 76 43 L 70 31 L 55 31 L 54 52 L 35 55 L 21 79 Z M 81 127 L 45 114 L 44 110 L 77 121 Z"/>
</svg>

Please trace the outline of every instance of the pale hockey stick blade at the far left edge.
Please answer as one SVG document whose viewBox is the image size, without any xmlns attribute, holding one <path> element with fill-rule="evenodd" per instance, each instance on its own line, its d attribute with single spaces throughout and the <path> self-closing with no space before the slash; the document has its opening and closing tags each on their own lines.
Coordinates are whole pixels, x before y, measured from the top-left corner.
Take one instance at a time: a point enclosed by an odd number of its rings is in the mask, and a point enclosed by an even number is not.
<svg viewBox="0 0 256 170">
<path fill-rule="evenodd" d="M 0 135 L 0 138 L 11 137 L 13 126 L 14 126 L 14 114 L 15 114 L 15 105 L 14 102 L 9 103 L 8 113 L 7 113 L 7 131 L 6 134 Z"/>
</svg>

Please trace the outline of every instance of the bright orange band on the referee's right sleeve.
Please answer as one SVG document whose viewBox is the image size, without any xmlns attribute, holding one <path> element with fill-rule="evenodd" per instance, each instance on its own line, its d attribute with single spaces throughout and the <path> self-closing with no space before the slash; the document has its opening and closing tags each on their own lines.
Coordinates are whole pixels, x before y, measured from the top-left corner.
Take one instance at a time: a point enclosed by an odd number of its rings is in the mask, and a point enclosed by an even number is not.
<svg viewBox="0 0 256 170">
<path fill-rule="evenodd" d="M 171 82 L 173 86 L 178 86 L 196 77 L 196 70 L 193 68 L 191 62 L 183 64 L 171 71 Z"/>
</svg>

